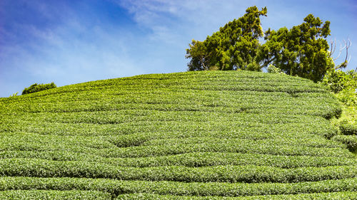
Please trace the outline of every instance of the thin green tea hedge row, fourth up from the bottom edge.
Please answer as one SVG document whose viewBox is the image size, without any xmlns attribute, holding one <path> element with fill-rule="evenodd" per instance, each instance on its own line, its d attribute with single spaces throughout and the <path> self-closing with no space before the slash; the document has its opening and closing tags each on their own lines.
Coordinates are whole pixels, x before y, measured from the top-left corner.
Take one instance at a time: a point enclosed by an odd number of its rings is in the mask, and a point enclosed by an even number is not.
<svg viewBox="0 0 357 200">
<path fill-rule="evenodd" d="M 137 158 L 105 158 L 94 154 L 84 154 L 64 151 L 3 151 L 0 159 L 32 158 L 48 159 L 56 161 L 82 161 L 98 162 L 121 167 L 159 167 L 159 166 L 186 166 L 207 167 L 218 165 L 257 165 L 280 168 L 298 167 L 328 167 L 342 165 L 356 165 L 357 159 L 344 157 L 308 157 L 308 156 L 279 156 L 268 154 L 241 154 L 241 153 L 217 153 L 195 152 L 188 154 L 176 154 L 159 157 Z"/>
</svg>

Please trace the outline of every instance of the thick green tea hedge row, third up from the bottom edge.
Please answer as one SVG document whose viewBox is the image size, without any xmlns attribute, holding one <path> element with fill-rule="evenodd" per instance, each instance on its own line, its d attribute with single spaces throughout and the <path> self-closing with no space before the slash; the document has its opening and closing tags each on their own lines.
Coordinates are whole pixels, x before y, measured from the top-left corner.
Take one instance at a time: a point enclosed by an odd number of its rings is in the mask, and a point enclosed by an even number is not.
<svg viewBox="0 0 357 200">
<path fill-rule="evenodd" d="M 118 167 L 95 162 L 1 159 L 2 176 L 89 177 L 147 181 L 299 182 L 357 177 L 356 166 L 281 169 L 266 166 Z"/>
</svg>

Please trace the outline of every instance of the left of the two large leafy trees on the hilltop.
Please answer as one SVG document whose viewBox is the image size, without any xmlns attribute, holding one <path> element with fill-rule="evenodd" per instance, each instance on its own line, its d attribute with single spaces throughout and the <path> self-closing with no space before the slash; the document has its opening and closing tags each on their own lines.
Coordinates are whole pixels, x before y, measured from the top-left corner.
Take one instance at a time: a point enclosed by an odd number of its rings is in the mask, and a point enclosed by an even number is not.
<svg viewBox="0 0 357 200">
<path fill-rule="evenodd" d="M 260 16 L 266 16 L 266 7 L 261 11 L 249 7 L 241 18 L 226 23 L 205 41 L 193 40 L 186 49 L 186 58 L 191 58 L 188 70 L 246 69 L 255 63 L 258 38 L 263 36 Z"/>
</svg>

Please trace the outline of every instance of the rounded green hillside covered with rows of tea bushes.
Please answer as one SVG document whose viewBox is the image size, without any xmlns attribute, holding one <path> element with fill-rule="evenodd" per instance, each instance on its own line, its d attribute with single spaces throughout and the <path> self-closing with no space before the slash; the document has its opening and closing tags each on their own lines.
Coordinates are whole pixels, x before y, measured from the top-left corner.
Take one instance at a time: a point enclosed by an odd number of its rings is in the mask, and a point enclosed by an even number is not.
<svg viewBox="0 0 357 200">
<path fill-rule="evenodd" d="M 248 71 L 1 98 L 0 199 L 352 199 L 340 112 L 310 80 Z"/>
</svg>

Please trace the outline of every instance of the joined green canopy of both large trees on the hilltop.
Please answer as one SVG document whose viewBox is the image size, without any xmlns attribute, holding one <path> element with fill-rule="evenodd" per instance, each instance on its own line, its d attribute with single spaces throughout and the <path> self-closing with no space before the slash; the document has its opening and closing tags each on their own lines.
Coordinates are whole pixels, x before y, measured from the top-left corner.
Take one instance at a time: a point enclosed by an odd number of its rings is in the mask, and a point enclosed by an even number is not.
<svg viewBox="0 0 357 200">
<path fill-rule="evenodd" d="M 264 33 L 260 17 L 266 13 L 266 7 L 249 7 L 205 41 L 193 40 L 186 49 L 186 58 L 191 59 L 188 70 L 261 70 L 273 64 L 286 74 L 316 82 L 334 68 L 326 41 L 329 21 L 308 14 L 298 26 Z M 265 43 L 259 42 L 261 38 Z"/>
</svg>

